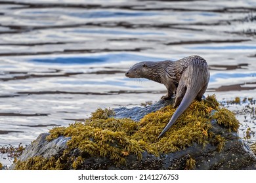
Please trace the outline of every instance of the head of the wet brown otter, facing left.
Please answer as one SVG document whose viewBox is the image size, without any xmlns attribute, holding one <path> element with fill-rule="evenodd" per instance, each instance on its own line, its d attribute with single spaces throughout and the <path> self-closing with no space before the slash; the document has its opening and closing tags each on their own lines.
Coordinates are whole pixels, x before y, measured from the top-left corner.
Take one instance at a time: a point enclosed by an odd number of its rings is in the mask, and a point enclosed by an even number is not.
<svg viewBox="0 0 256 183">
<path fill-rule="evenodd" d="M 128 78 L 148 78 L 147 70 L 148 70 L 148 61 L 142 61 L 136 63 L 125 73 L 125 76 Z"/>
</svg>

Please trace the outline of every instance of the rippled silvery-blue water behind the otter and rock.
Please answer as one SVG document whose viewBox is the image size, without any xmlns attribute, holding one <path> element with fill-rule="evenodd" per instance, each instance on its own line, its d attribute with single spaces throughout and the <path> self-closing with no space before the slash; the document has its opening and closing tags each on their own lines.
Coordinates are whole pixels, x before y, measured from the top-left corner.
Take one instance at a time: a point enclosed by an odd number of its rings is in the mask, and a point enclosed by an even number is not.
<svg viewBox="0 0 256 183">
<path fill-rule="evenodd" d="M 205 95 L 255 99 L 255 22 L 254 0 L 0 0 L 0 145 L 29 144 L 99 107 L 158 101 L 163 85 L 125 78 L 139 61 L 200 55 Z M 240 137 L 255 130 L 238 119 Z"/>
</svg>

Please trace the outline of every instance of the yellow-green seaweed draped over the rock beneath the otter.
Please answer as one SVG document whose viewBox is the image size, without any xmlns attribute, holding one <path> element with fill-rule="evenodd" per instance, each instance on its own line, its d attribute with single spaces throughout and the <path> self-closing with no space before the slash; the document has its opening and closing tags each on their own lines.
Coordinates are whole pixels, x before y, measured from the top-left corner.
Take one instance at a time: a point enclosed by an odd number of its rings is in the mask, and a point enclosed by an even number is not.
<svg viewBox="0 0 256 183">
<path fill-rule="evenodd" d="M 239 127 L 234 114 L 221 108 L 215 95 L 211 95 L 200 102 L 194 101 L 171 129 L 158 139 L 175 110 L 169 105 L 147 114 L 140 122 L 134 122 L 127 118 L 112 118 L 113 110 L 98 108 L 85 122 L 54 127 L 49 131 L 48 141 L 60 135 L 72 138 L 60 157 L 16 161 L 16 169 L 80 169 L 89 157 L 108 158 L 119 166 L 127 163 L 125 158 L 129 155 L 135 155 L 140 160 L 145 151 L 159 156 L 182 150 L 195 142 L 203 146 L 211 143 L 221 151 L 225 139 L 210 131 L 211 120 L 216 119 L 218 124 L 232 131 L 237 131 Z M 75 149 L 80 152 L 78 156 L 72 155 Z M 186 167 L 193 168 L 195 163 L 194 159 L 188 159 Z"/>
</svg>

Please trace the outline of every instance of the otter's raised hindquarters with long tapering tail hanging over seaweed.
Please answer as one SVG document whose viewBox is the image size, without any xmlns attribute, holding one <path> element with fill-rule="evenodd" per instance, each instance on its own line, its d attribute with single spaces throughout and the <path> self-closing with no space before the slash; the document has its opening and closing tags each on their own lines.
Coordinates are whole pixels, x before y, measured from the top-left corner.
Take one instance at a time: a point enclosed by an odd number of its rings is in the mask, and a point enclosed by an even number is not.
<svg viewBox="0 0 256 183">
<path fill-rule="evenodd" d="M 179 107 L 174 112 L 169 123 L 158 136 L 158 139 L 176 122 L 181 114 L 190 106 L 194 99 L 200 101 L 209 82 L 209 70 L 204 59 L 200 62 L 193 60 L 186 68 L 181 76 L 179 86 L 177 88 L 177 97 L 174 107 Z"/>
</svg>

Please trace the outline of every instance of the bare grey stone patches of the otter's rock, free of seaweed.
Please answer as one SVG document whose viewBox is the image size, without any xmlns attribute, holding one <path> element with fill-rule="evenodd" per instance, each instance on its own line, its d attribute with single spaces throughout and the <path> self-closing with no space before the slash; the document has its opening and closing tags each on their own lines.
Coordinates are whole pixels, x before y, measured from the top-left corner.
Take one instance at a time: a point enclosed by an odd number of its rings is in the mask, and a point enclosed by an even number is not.
<svg viewBox="0 0 256 183">
<path fill-rule="evenodd" d="M 171 105 L 173 101 L 158 101 L 154 105 L 147 107 L 134 108 L 115 108 L 116 118 L 132 118 L 139 121 L 144 115 L 156 111 L 166 105 Z M 169 154 L 160 154 L 160 157 L 153 156 L 147 152 L 142 153 L 142 159 L 131 154 L 127 156 L 126 165 L 117 167 L 114 163 L 103 157 L 88 157 L 79 169 L 185 169 L 188 158 L 196 160 L 195 169 L 256 169 L 256 157 L 245 142 L 238 137 L 237 133 L 230 132 L 228 129 L 217 124 L 212 120 L 213 131 L 226 139 L 224 149 L 217 151 L 216 146 L 206 144 L 202 146 L 194 143 L 192 146 Z M 66 142 L 69 137 L 58 137 L 53 141 L 46 141 L 49 133 L 42 133 L 37 139 L 26 147 L 21 161 L 35 156 L 49 158 L 51 156 L 60 156 L 66 148 Z M 79 156 L 81 153 L 75 149 L 70 156 Z M 72 169 L 72 166 L 70 166 Z"/>
</svg>

